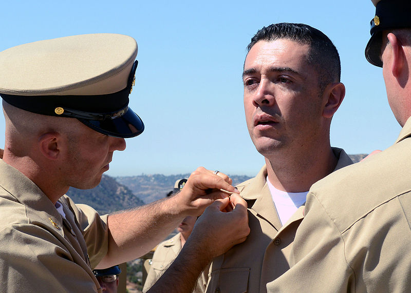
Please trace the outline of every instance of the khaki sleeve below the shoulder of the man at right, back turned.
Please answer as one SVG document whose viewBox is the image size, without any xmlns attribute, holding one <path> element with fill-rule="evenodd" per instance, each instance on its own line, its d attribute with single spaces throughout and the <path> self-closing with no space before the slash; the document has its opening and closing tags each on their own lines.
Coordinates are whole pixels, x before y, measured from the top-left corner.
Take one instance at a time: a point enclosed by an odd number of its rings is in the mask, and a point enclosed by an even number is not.
<svg viewBox="0 0 411 293">
<path fill-rule="evenodd" d="M 314 197 L 311 200 L 316 201 Z M 297 229 L 290 261 L 291 268 L 267 284 L 268 292 L 354 291 L 344 240 L 319 202 L 312 205 Z"/>
</svg>

